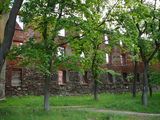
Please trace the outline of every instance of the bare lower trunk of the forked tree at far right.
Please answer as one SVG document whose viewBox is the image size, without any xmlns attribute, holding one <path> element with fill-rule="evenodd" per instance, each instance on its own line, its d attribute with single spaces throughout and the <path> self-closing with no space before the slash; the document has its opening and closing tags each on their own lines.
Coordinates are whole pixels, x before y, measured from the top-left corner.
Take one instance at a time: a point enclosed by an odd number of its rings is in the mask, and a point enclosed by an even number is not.
<svg viewBox="0 0 160 120">
<path fill-rule="evenodd" d="M 148 63 L 144 62 L 144 77 L 143 77 L 143 88 L 142 88 L 142 104 L 147 106 L 148 104 Z"/>
</svg>

